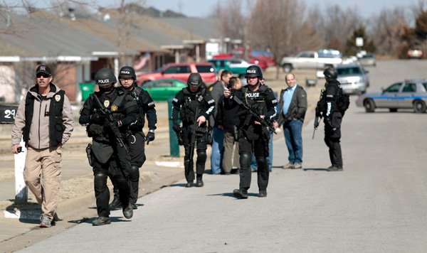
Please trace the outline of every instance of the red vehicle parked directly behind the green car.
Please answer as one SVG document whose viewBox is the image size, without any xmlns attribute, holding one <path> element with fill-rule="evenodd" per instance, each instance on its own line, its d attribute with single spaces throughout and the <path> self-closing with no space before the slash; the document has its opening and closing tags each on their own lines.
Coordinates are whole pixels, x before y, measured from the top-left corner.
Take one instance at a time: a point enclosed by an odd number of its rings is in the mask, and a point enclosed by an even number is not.
<svg viewBox="0 0 427 253">
<path fill-rule="evenodd" d="M 186 82 L 191 73 L 199 72 L 206 85 L 216 82 L 212 63 L 167 63 L 154 72 L 138 76 L 140 84 L 157 79 L 177 79 Z"/>
</svg>

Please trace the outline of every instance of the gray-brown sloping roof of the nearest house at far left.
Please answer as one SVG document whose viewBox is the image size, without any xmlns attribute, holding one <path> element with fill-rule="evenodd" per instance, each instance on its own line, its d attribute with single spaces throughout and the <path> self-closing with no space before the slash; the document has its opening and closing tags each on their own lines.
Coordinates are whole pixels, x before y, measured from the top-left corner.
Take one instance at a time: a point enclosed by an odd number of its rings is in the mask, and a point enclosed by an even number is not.
<svg viewBox="0 0 427 253">
<path fill-rule="evenodd" d="M 0 40 L 13 45 L 11 53 L 19 53 L 23 57 L 51 57 L 57 60 L 65 58 L 70 60 L 71 57 L 90 59 L 96 58 L 93 55 L 95 51 L 117 55 L 117 45 L 111 41 L 58 22 L 58 17 L 44 11 L 25 16 L 11 14 L 11 21 L 9 28 L 5 27 L 4 23 L 0 24 L 3 31 L 10 31 L 0 33 Z M 125 53 L 139 54 L 137 50 L 126 50 Z"/>
</svg>

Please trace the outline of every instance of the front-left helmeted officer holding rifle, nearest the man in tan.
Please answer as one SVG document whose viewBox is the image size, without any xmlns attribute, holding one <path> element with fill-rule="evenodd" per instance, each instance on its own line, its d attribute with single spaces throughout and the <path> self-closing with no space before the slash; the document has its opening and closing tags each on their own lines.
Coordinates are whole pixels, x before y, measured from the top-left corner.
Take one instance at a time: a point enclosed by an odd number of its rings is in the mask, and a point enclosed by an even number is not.
<svg viewBox="0 0 427 253">
<path fill-rule="evenodd" d="M 130 124 L 137 122 L 137 103 L 125 92 L 114 87 L 117 82 L 109 68 L 101 68 L 95 74 L 95 82 L 100 91 L 90 95 L 80 110 L 79 122 L 86 126 L 92 145 L 87 153 L 93 166 L 97 219 L 92 225 L 110 224 L 110 190 L 107 187 L 108 173 L 120 190 L 123 215 L 130 219 L 133 215 L 130 204 L 128 177 L 130 155 L 127 154 L 125 134 Z M 112 122 L 110 122 L 110 119 Z"/>
</svg>

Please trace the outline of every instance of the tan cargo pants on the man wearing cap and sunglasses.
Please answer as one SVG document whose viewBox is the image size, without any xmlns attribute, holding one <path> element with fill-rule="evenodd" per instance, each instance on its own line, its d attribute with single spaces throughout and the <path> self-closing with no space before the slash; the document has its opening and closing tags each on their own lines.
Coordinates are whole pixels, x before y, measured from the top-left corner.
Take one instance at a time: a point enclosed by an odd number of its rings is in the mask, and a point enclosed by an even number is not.
<svg viewBox="0 0 427 253">
<path fill-rule="evenodd" d="M 23 170 L 23 180 L 36 196 L 41 212 L 53 219 L 59 200 L 60 170 L 62 167 L 61 146 L 48 149 L 28 147 Z"/>
</svg>

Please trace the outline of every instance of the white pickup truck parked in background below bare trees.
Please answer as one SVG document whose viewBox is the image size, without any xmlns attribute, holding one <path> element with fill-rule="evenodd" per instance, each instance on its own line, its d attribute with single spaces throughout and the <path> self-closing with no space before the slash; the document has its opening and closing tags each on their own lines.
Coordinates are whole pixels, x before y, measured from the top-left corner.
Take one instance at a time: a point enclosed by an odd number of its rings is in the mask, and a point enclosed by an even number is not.
<svg viewBox="0 0 427 253">
<path fill-rule="evenodd" d="M 335 67 L 342 63 L 342 54 L 338 50 L 320 49 L 317 51 L 303 51 L 294 57 L 284 57 L 280 62 L 283 71 L 290 72 L 293 69 L 320 70 L 327 67 Z"/>
</svg>

